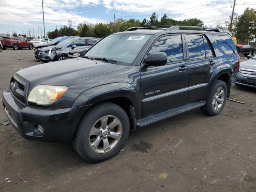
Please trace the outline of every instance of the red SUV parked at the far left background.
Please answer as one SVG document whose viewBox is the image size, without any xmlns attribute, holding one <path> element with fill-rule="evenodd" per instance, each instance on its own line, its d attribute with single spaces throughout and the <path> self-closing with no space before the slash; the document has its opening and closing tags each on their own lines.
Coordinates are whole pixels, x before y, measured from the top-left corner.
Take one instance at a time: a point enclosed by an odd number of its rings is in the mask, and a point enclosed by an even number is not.
<svg viewBox="0 0 256 192">
<path fill-rule="evenodd" d="M 3 37 L 0 41 L 2 42 L 3 50 L 7 48 L 13 48 L 13 50 L 22 48 L 33 49 L 33 43 L 22 37 Z"/>
</svg>

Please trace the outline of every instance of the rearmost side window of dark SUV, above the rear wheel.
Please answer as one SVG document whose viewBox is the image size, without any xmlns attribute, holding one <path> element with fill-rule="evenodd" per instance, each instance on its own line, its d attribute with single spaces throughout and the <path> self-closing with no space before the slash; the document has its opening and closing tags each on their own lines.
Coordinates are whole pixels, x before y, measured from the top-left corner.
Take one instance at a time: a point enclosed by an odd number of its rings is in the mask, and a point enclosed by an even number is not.
<svg viewBox="0 0 256 192">
<path fill-rule="evenodd" d="M 230 36 L 213 35 L 214 39 L 218 42 L 225 54 L 236 53 L 236 46 Z"/>
</svg>

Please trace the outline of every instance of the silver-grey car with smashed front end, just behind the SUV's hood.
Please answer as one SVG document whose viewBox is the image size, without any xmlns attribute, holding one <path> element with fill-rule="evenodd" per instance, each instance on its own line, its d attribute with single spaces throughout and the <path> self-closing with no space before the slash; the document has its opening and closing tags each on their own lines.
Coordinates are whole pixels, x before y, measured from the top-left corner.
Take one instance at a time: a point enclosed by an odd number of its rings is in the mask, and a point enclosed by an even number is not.
<svg viewBox="0 0 256 192">
<path fill-rule="evenodd" d="M 42 48 L 38 54 L 40 62 L 52 62 L 65 60 L 68 58 L 68 52 L 79 48 L 88 48 L 91 44 L 97 42 L 99 38 L 93 37 L 73 37 L 62 41 L 55 46 Z"/>
</svg>

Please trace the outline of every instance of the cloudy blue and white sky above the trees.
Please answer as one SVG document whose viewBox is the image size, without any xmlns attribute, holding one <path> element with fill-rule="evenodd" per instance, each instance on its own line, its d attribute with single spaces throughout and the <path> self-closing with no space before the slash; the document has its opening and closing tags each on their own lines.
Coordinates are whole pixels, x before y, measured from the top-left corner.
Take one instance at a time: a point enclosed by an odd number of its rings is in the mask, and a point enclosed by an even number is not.
<svg viewBox="0 0 256 192">
<path fill-rule="evenodd" d="M 144 18 L 156 12 L 159 20 L 166 13 L 169 18 L 183 20 L 199 18 L 206 26 L 224 26 L 232 14 L 234 0 L 44 0 L 45 32 L 81 22 L 107 23 L 116 18 Z M 241 15 L 247 8 L 256 8 L 255 0 L 236 0 L 234 12 Z M 29 31 L 40 34 L 43 28 L 42 0 L 0 0 L 0 33 L 10 35 Z"/>
</svg>

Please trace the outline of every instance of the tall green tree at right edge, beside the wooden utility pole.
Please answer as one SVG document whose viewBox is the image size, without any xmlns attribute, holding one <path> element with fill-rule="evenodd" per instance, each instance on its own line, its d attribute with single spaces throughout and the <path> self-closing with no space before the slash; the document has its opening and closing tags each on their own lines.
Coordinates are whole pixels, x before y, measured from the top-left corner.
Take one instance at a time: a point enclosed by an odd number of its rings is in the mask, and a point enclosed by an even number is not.
<svg viewBox="0 0 256 192">
<path fill-rule="evenodd" d="M 246 8 L 236 24 L 236 38 L 239 41 L 251 41 L 256 38 L 256 10 Z"/>
</svg>

